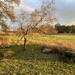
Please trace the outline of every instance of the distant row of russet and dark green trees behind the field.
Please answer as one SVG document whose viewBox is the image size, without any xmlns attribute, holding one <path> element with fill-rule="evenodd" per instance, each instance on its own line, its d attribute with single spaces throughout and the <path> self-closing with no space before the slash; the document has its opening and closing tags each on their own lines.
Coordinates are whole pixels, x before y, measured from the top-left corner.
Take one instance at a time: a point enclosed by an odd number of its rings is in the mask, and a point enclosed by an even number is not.
<svg viewBox="0 0 75 75">
<path fill-rule="evenodd" d="M 16 30 L 17 35 L 23 34 L 23 29 L 18 28 Z M 25 31 L 25 29 L 24 29 Z M 60 25 L 55 24 L 54 26 L 51 24 L 43 24 L 38 27 L 35 27 L 33 30 L 30 31 L 30 33 L 39 33 L 39 34 L 45 34 L 45 35 L 52 35 L 52 34 L 59 34 L 59 33 L 75 33 L 75 25 Z"/>
</svg>

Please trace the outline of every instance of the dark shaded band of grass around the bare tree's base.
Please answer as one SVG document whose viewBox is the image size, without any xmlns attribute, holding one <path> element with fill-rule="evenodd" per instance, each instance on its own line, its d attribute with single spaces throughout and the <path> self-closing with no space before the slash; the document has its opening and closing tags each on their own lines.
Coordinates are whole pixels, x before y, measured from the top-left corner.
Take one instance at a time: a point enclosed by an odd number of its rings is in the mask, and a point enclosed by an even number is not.
<svg viewBox="0 0 75 75">
<path fill-rule="evenodd" d="M 40 48 L 40 44 L 28 44 L 26 51 L 22 51 L 21 46 L 10 46 L 3 48 L 1 51 L 5 54 L 5 58 L 17 60 L 44 60 L 44 61 L 67 61 L 66 58 L 57 53 L 44 54 Z M 70 60 L 70 59 L 68 59 Z M 68 61 L 67 61 L 68 62 Z"/>
</svg>

